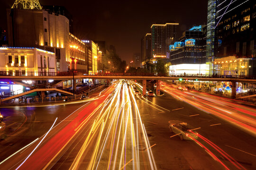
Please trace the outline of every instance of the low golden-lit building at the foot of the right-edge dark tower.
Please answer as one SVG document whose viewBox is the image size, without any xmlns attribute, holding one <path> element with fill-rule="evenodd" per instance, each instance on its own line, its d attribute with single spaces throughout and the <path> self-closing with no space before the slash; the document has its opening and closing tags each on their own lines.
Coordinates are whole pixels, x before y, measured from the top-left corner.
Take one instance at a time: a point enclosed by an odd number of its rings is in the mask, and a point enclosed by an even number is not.
<svg viewBox="0 0 256 170">
<path fill-rule="evenodd" d="M 236 56 L 214 59 L 212 62 L 214 72 L 218 75 L 248 76 L 252 75 L 253 59 L 236 58 Z"/>
</svg>

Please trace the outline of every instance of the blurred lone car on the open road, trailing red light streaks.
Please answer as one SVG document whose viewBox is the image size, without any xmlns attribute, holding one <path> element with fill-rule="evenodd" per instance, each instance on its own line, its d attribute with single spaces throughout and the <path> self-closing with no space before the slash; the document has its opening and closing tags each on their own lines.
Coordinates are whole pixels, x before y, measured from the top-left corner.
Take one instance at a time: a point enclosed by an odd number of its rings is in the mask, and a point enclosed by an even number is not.
<svg viewBox="0 0 256 170">
<path fill-rule="evenodd" d="M 181 140 L 193 140 L 198 138 L 198 133 L 187 123 L 174 123 L 169 126 L 170 132 L 174 132 Z"/>
</svg>

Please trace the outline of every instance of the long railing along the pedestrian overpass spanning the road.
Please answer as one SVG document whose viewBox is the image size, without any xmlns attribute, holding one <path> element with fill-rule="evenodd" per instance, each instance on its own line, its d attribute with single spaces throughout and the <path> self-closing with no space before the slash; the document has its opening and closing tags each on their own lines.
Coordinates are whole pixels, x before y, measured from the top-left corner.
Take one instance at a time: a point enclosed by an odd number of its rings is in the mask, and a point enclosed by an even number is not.
<svg viewBox="0 0 256 170">
<path fill-rule="evenodd" d="M 88 73 L 74 71 L 74 76 L 89 75 Z M 68 72 L 10 72 L 0 71 L 0 76 L 73 76 L 73 71 Z M 93 76 L 93 75 L 91 75 Z M 194 77 L 194 78 L 239 78 L 256 79 L 256 76 L 242 75 L 205 75 L 205 74 L 154 74 L 154 73 L 98 73 L 94 76 L 165 76 L 165 77 Z"/>
</svg>

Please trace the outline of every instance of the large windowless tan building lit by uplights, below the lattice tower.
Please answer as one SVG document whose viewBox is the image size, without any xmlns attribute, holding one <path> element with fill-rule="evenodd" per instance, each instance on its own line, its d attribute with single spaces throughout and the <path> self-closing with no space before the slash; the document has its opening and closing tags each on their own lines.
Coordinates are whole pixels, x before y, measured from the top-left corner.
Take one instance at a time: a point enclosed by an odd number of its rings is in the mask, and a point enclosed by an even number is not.
<svg viewBox="0 0 256 170">
<path fill-rule="evenodd" d="M 25 22 L 26 21 L 26 22 Z M 67 71 L 69 19 L 42 9 L 7 9 L 9 46 L 55 52 L 56 71 Z"/>
</svg>

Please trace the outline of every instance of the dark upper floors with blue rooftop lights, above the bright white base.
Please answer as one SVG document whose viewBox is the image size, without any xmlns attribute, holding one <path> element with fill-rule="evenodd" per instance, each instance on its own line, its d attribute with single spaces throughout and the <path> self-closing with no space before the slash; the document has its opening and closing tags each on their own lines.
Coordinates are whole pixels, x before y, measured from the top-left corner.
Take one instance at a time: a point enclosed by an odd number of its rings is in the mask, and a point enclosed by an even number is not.
<svg viewBox="0 0 256 170">
<path fill-rule="evenodd" d="M 206 26 L 193 26 L 191 29 L 183 32 L 179 42 L 174 42 L 173 45 L 169 46 L 170 58 L 168 61 L 172 65 L 204 64 L 206 60 L 205 36 Z"/>
</svg>

